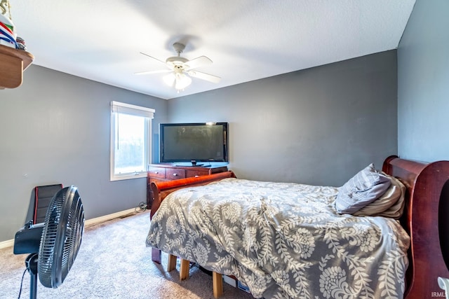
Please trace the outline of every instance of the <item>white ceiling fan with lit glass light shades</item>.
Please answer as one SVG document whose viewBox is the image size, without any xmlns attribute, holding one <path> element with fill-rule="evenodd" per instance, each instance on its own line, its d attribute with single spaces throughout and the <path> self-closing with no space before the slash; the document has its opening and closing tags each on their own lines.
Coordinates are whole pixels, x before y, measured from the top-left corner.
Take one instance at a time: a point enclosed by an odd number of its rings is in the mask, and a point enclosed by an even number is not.
<svg viewBox="0 0 449 299">
<path fill-rule="evenodd" d="M 185 57 L 181 57 L 181 53 L 185 49 L 185 44 L 173 43 L 173 48 L 175 49 L 177 56 L 168 57 L 165 62 L 141 52 L 141 54 L 165 64 L 166 67 L 168 67 L 168 69 L 161 69 L 157 71 L 140 71 L 134 74 L 147 75 L 147 74 L 170 73 L 166 76 L 163 76 L 163 81 L 167 85 L 175 87 L 178 92 L 180 90 L 184 90 L 184 88 L 186 88 L 187 86 L 190 85 L 190 83 L 192 83 L 192 78 L 190 77 L 199 78 L 201 80 L 206 80 L 212 83 L 220 82 L 221 78 L 218 76 L 213 76 L 210 74 L 203 73 L 202 71 L 194 70 L 198 67 L 203 67 L 205 65 L 212 64 L 212 60 L 210 60 L 208 57 L 200 56 L 192 60 L 188 60 Z"/>
</svg>

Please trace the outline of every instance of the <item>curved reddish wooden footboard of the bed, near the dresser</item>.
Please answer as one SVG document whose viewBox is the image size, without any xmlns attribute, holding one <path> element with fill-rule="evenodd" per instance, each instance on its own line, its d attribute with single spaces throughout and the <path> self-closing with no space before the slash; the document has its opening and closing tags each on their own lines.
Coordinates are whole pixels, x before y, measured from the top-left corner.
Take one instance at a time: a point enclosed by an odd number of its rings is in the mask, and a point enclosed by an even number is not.
<svg viewBox="0 0 449 299">
<path fill-rule="evenodd" d="M 154 213 L 156 213 L 157 209 L 159 209 L 159 206 L 161 205 L 163 199 L 175 190 L 186 187 L 206 185 L 213 181 L 220 181 L 222 179 L 235 177 L 236 175 L 234 174 L 234 172 L 229 171 L 210 174 L 207 176 L 198 176 L 194 178 L 153 182 L 151 188 L 154 194 L 154 200 L 152 203 L 151 211 L 149 213 L 149 218 L 153 218 Z M 152 249 L 152 260 L 156 263 L 161 263 L 161 251 L 159 249 Z"/>
</svg>

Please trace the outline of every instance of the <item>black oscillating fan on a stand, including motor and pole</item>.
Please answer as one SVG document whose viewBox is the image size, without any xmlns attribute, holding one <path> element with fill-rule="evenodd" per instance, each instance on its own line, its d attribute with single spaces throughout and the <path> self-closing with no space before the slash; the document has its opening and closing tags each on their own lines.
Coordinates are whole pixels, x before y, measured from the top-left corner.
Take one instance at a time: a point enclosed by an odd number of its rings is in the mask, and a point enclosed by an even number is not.
<svg viewBox="0 0 449 299">
<path fill-rule="evenodd" d="M 84 209 L 78 189 L 59 190 L 48 205 L 45 222 L 29 223 L 15 233 L 14 253 L 31 253 L 25 260 L 31 275 L 29 298 L 36 298 L 37 277 L 47 288 L 58 288 L 72 267 L 81 245 Z"/>
</svg>

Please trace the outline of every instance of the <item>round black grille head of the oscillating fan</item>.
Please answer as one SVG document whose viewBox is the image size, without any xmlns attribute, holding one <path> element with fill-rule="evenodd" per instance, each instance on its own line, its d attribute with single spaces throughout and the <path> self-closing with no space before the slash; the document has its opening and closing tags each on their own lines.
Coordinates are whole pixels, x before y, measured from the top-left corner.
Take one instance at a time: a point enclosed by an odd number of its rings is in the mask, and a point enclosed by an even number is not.
<svg viewBox="0 0 449 299">
<path fill-rule="evenodd" d="M 43 286 L 58 288 L 81 246 L 84 210 L 78 190 L 70 186 L 53 197 L 45 218 L 39 248 L 38 273 Z"/>
</svg>

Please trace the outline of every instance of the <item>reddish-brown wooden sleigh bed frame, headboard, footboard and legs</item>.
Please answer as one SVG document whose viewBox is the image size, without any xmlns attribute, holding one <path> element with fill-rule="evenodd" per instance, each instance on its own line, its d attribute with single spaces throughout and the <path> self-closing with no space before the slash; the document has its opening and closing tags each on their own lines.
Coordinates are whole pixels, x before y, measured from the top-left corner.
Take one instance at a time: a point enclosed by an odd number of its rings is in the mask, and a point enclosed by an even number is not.
<svg viewBox="0 0 449 299">
<path fill-rule="evenodd" d="M 391 155 L 384 160 L 382 171 L 401 179 L 407 187 L 406 207 L 400 219 L 411 239 L 404 298 L 444 298 L 437 279 L 449 278 L 449 161 L 424 163 Z M 156 213 L 162 200 L 174 190 L 205 185 L 228 177 L 235 175 L 233 172 L 222 172 L 152 183 L 154 201 L 150 218 Z M 152 260 L 161 263 L 159 249 L 152 249 Z M 169 269 L 173 269 L 174 263 L 173 256 L 170 256 Z M 186 274 L 182 273 L 184 271 L 180 270 L 181 277 L 185 277 Z"/>
</svg>

